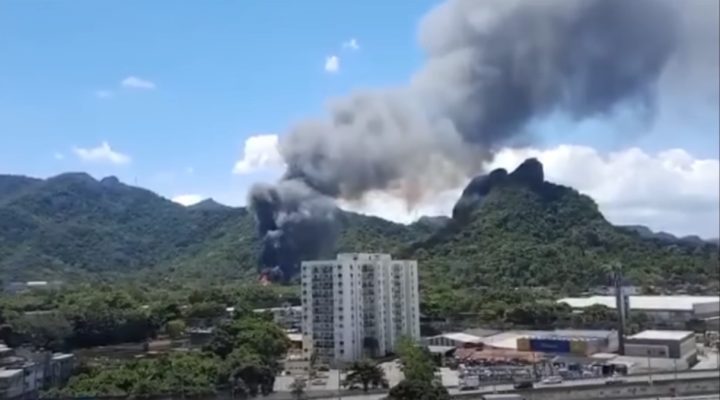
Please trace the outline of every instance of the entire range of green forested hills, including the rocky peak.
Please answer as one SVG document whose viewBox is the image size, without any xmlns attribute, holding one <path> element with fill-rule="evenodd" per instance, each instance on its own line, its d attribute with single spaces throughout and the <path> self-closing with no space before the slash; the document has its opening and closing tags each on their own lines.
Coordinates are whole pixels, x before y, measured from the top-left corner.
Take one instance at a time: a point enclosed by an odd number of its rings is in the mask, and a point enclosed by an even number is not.
<svg viewBox="0 0 720 400">
<path fill-rule="evenodd" d="M 423 290 L 488 285 L 586 287 L 622 262 L 631 281 L 717 281 L 717 246 L 643 238 L 614 227 L 573 189 L 546 182 L 528 161 L 475 178 L 452 219 L 401 225 L 341 216 L 338 251 L 416 257 Z M 110 177 L 46 180 L 0 175 L 0 279 L 256 278 L 259 243 L 244 208 L 175 204 Z"/>
</svg>

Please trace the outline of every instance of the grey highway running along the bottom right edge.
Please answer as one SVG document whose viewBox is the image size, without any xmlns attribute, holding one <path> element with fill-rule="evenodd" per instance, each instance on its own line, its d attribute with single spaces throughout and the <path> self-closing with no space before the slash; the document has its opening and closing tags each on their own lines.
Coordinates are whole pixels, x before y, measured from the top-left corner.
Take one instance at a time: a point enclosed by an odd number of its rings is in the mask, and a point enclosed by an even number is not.
<svg viewBox="0 0 720 400">
<path fill-rule="evenodd" d="M 711 370 L 711 371 L 684 371 L 679 372 L 677 374 L 678 379 L 692 379 L 692 378 L 720 378 L 720 371 L 718 370 Z M 653 382 L 658 381 L 672 381 L 675 379 L 675 374 L 670 373 L 660 373 L 660 374 L 653 374 L 652 380 Z M 650 375 L 629 375 L 624 377 L 624 380 L 628 383 L 630 382 L 648 382 L 650 380 Z M 605 382 L 604 378 L 594 378 L 594 379 L 578 379 L 578 380 L 572 380 L 572 381 L 564 381 L 562 383 L 558 383 L 555 385 L 538 385 L 539 386 L 547 386 L 547 387 L 574 387 L 574 386 L 586 386 L 586 385 L 597 385 L 602 384 Z M 458 389 L 451 388 L 448 390 L 451 395 L 453 394 L 459 394 L 459 393 L 492 393 L 493 391 L 511 391 L 514 390 L 513 386 L 511 384 L 504 384 L 504 385 L 496 385 L 493 386 L 486 386 L 483 387 L 480 390 L 468 390 L 468 391 L 459 391 Z M 353 396 L 342 396 L 340 397 L 333 397 L 332 399 L 342 399 L 342 400 L 380 400 L 385 397 L 385 394 L 372 394 L 372 395 L 353 395 Z M 653 400 L 656 400 L 657 398 L 653 398 Z M 683 397 L 677 397 L 674 400 L 683 399 Z M 718 396 L 690 396 L 685 398 L 687 400 L 720 400 L 718 399 Z M 329 400 L 329 399 L 328 399 Z"/>
</svg>

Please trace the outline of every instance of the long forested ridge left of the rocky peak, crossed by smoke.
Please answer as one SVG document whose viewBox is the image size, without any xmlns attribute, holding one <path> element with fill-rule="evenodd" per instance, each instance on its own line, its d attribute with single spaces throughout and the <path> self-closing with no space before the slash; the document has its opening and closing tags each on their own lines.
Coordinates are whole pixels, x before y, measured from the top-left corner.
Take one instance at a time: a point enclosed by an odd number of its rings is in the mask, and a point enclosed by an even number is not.
<svg viewBox="0 0 720 400">
<path fill-rule="evenodd" d="M 412 229 L 342 215 L 341 251 L 394 251 Z M 0 175 L 0 279 L 235 279 L 256 276 L 259 242 L 245 208 L 193 207 L 125 185 L 67 173 Z M 149 270 L 149 271 L 148 271 Z M 159 274 L 158 274 L 159 273 Z"/>
</svg>

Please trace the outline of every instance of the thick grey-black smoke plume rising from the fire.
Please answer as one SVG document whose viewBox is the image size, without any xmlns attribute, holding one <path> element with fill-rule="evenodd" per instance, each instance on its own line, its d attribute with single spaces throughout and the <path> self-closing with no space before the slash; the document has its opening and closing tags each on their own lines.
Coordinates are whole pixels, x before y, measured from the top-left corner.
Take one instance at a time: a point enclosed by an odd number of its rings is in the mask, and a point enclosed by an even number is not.
<svg viewBox="0 0 720 400">
<path fill-rule="evenodd" d="M 582 120 L 632 104 L 651 114 L 680 47 L 678 10 L 665 0 L 450 0 L 431 10 L 419 31 L 426 61 L 407 86 L 336 99 L 326 118 L 282 137 L 284 178 L 250 194 L 262 267 L 287 278 L 300 260 L 330 255 L 335 198 L 383 190 L 412 205 L 481 172 L 550 113 Z"/>
</svg>

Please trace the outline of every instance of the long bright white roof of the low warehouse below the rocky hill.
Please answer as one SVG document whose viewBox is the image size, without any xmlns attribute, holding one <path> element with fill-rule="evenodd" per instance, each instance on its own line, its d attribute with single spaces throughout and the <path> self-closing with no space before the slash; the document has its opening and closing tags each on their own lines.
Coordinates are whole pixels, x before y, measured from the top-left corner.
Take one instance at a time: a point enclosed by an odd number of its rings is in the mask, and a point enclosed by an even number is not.
<svg viewBox="0 0 720 400">
<path fill-rule="evenodd" d="M 692 311 L 694 304 L 718 303 L 717 296 L 629 296 L 634 310 Z M 615 308 L 615 296 L 566 297 L 558 300 L 572 308 L 585 308 L 595 304 Z"/>
</svg>

